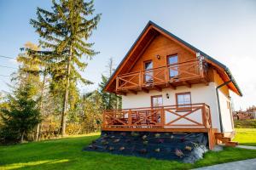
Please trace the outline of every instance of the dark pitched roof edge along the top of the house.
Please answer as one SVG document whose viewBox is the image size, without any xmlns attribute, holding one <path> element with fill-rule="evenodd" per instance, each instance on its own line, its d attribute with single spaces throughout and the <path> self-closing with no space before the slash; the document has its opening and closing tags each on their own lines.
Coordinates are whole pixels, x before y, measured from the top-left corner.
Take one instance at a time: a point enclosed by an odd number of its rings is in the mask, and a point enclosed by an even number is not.
<svg viewBox="0 0 256 170">
<path fill-rule="evenodd" d="M 241 93 L 241 89 L 239 88 L 235 78 L 232 76 L 231 72 L 230 72 L 230 69 L 222 64 L 221 62 L 219 62 L 218 60 L 216 59 L 213 59 L 210 55 L 202 52 L 200 49 L 198 48 L 195 48 L 194 46 L 192 46 L 191 44 L 189 44 L 189 42 L 185 42 L 183 41 L 181 38 L 175 36 L 174 34 L 172 34 L 171 32 L 169 31 L 166 31 L 164 28 L 156 25 L 153 21 L 149 20 L 148 21 L 148 24 L 144 27 L 142 33 L 139 35 L 139 37 L 137 37 L 137 40 L 136 42 L 134 42 L 131 46 L 131 48 L 129 49 L 128 53 L 125 54 L 125 58 L 122 59 L 122 61 L 119 63 L 117 69 L 113 72 L 112 76 L 109 78 L 106 86 L 104 89 L 106 89 L 106 87 L 108 86 L 109 82 L 113 79 L 114 75 L 116 74 L 117 71 L 119 71 L 119 68 L 121 65 L 123 65 L 123 63 L 125 62 L 125 60 L 127 59 L 127 57 L 129 56 L 129 54 L 131 53 L 131 50 L 136 46 L 137 42 L 140 40 L 140 38 L 143 36 L 143 34 L 145 33 L 145 31 L 147 31 L 148 27 L 149 26 L 154 26 L 155 28 L 159 29 L 160 31 L 163 31 L 165 32 L 168 36 L 174 38 L 177 40 L 177 42 L 181 42 L 183 45 L 185 45 L 187 48 L 190 48 L 192 49 L 193 51 L 195 51 L 196 53 L 200 53 L 202 56 L 206 57 L 208 60 L 212 61 L 212 63 L 214 63 L 215 65 L 218 65 L 219 67 L 221 67 L 222 69 L 224 69 L 225 73 L 228 75 L 228 77 L 230 78 L 230 81 L 234 84 L 235 88 L 237 89 L 237 92 L 240 96 L 242 96 L 242 93 Z"/>
</svg>

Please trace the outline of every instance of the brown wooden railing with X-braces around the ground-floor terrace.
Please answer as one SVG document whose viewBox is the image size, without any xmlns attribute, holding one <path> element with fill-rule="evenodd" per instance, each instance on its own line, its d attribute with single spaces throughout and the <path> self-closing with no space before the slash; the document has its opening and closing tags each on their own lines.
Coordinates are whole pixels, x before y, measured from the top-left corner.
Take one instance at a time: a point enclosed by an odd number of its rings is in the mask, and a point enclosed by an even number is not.
<svg viewBox="0 0 256 170">
<path fill-rule="evenodd" d="M 124 110 L 103 111 L 102 127 L 212 127 L 210 107 L 204 103 L 187 105 L 165 105 Z M 181 114 L 181 112 L 183 114 Z M 191 114 L 201 114 L 197 120 Z M 176 118 L 170 118 L 175 116 Z M 187 123 L 177 123 L 186 120 Z"/>
</svg>

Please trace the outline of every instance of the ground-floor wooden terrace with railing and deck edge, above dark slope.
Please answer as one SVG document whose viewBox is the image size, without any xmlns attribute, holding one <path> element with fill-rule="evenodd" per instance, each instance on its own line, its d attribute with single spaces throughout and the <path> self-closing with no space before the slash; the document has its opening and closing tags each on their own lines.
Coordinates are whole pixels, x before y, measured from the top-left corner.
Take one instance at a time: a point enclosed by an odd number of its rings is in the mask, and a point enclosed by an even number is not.
<svg viewBox="0 0 256 170">
<path fill-rule="evenodd" d="M 207 132 L 211 127 L 204 103 L 104 111 L 102 123 L 102 130 L 111 131 Z"/>
</svg>

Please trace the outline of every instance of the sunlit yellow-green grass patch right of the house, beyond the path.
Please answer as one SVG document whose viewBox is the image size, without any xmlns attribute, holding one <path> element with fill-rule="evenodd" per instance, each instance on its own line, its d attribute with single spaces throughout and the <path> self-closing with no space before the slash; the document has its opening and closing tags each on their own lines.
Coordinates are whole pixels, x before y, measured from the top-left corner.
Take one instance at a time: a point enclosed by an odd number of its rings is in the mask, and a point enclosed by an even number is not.
<svg viewBox="0 0 256 170">
<path fill-rule="evenodd" d="M 236 128 L 234 141 L 242 145 L 256 146 L 256 128 Z"/>
</svg>

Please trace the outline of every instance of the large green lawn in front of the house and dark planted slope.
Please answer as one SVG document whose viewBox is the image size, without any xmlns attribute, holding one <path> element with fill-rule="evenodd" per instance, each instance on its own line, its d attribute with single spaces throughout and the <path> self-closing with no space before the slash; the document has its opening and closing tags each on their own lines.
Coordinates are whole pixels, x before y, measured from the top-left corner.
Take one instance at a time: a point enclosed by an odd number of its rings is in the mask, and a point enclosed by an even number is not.
<svg viewBox="0 0 256 170">
<path fill-rule="evenodd" d="M 82 151 L 98 134 L 0 146 L 0 169 L 189 169 L 256 157 L 256 150 L 225 148 L 193 164 Z"/>
</svg>

